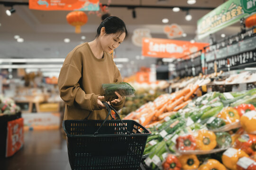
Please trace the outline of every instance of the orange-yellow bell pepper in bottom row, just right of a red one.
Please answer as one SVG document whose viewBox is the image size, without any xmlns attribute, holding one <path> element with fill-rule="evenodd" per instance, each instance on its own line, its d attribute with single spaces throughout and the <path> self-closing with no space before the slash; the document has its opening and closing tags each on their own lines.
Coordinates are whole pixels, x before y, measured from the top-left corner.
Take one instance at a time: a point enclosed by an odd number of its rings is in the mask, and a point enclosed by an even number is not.
<svg viewBox="0 0 256 170">
<path fill-rule="evenodd" d="M 199 167 L 199 160 L 197 159 L 196 155 L 182 155 L 179 157 L 179 161 L 182 164 L 183 170 L 193 170 Z"/>
</svg>

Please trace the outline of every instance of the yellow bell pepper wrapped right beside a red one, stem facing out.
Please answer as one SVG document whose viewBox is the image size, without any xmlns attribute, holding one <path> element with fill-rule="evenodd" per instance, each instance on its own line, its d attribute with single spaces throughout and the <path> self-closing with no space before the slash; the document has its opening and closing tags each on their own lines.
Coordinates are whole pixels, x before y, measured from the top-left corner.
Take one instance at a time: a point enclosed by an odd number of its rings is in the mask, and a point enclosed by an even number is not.
<svg viewBox="0 0 256 170">
<path fill-rule="evenodd" d="M 217 145 L 216 135 L 205 129 L 199 130 L 196 137 L 196 145 L 199 150 L 212 150 Z"/>
</svg>

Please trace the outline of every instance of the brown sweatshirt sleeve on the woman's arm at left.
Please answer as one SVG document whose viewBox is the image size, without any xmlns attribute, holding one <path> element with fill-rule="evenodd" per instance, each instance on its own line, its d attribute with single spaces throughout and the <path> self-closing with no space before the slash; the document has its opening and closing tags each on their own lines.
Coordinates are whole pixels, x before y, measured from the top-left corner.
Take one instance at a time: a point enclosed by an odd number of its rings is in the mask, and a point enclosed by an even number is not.
<svg viewBox="0 0 256 170">
<path fill-rule="evenodd" d="M 79 106 L 85 110 L 101 110 L 97 99 L 99 95 L 94 93 L 85 94 L 79 85 L 81 72 L 71 64 L 64 65 L 61 68 L 58 78 L 58 87 L 60 97 L 68 106 Z"/>
</svg>

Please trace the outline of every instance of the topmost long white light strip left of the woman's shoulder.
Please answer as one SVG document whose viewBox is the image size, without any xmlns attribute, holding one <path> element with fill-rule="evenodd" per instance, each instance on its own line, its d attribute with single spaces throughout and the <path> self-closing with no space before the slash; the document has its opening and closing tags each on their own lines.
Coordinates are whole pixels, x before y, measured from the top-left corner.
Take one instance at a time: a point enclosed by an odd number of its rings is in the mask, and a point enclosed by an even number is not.
<svg viewBox="0 0 256 170">
<path fill-rule="evenodd" d="M 0 59 L 0 63 L 33 63 L 33 62 L 64 62 L 65 59 Z"/>
</svg>

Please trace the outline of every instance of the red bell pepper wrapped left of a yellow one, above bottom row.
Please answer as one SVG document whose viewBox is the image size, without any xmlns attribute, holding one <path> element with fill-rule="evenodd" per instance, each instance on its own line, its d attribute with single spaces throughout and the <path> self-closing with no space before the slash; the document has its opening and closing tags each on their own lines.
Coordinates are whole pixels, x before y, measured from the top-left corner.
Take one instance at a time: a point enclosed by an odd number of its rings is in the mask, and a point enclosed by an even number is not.
<svg viewBox="0 0 256 170">
<path fill-rule="evenodd" d="M 186 136 L 179 136 L 176 139 L 176 148 L 179 150 L 195 150 L 196 149 L 196 141 L 194 136 L 186 135 Z"/>
</svg>

